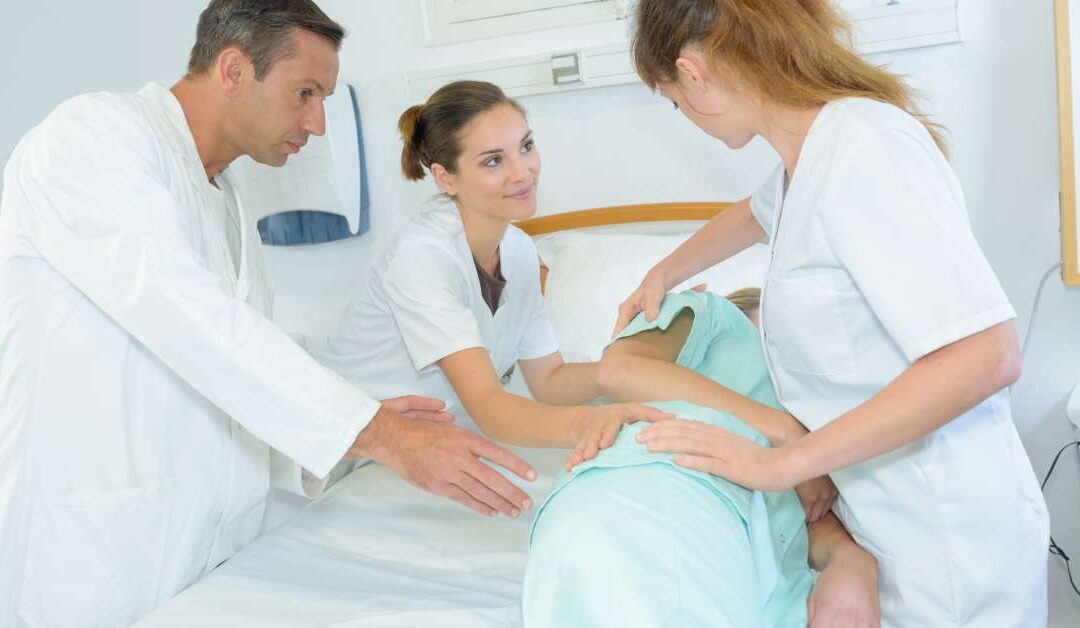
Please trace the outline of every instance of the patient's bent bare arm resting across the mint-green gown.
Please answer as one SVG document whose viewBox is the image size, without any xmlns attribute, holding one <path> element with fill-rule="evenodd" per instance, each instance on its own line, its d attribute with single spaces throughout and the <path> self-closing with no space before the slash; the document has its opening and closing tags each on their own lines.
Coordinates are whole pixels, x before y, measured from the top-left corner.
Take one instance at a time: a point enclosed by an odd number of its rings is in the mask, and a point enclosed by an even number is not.
<svg viewBox="0 0 1080 628">
<path fill-rule="evenodd" d="M 806 433 L 786 412 L 676 364 L 692 326 L 693 310 L 686 308 L 666 330 L 648 330 L 612 343 L 597 370 L 600 390 L 617 401 L 681 400 L 730 412 L 777 446 Z"/>
</svg>

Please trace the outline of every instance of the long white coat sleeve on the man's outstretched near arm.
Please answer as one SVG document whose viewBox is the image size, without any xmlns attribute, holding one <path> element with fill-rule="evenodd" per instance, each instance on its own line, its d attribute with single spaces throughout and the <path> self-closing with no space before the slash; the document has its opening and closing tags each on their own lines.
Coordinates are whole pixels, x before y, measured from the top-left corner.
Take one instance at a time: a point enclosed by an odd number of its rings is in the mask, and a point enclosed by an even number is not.
<svg viewBox="0 0 1080 628">
<path fill-rule="evenodd" d="M 44 259 L 212 403 L 325 476 L 379 407 L 229 296 L 188 241 L 138 111 L 108 101 L 58 110 L 5 172 Z M 57 391 L 63 393 L 63 391 Z"/>
</svg>

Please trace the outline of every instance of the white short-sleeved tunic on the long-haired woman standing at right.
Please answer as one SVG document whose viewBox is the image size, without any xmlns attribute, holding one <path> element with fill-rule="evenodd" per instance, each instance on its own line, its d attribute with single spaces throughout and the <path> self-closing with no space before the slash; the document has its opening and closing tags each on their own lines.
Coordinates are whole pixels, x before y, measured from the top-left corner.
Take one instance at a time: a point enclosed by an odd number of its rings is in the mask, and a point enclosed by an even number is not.
<svg viewBox="0 0 1080 628">
<path fill-rule="evenodd" d="M 769 372 L 811 430 L 1015 317 L 948 162 L 896 107 L 826 105 L 786 195 L 781 168 L 752 210 L 770 233 Z M 837 515 L 880 563 L 886 627 L 1045 626 L 1047 507 L 1007 390 L 832 478 Z"/>
</svg>

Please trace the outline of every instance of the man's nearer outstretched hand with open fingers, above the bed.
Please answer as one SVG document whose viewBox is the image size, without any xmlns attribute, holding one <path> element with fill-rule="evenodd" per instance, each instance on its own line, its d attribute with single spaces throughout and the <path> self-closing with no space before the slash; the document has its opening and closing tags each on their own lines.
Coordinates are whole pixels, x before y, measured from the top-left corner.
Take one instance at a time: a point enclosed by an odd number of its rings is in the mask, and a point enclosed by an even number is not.
<svg viewBox="0 0 1080 628">
<path fill-rule="evenodd" d="M 411 484 L 488 517 L 517 517 L 532 507 L 524 491 L 483 462 L 535 480 L 536 469 L 510 450 L 454 425 L 409 420 L 386 404 L 348 456 L 370 457 Z"/>
</svg>

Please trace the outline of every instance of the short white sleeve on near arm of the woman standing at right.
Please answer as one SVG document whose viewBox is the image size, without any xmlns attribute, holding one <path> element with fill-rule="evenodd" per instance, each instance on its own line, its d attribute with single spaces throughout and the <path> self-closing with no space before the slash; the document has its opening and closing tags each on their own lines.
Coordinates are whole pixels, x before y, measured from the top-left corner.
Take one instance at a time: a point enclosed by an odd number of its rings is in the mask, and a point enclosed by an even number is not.
<svg viewBox="0 0 1080 628">
<path fill-rule="evenodd" d="M 824 229 L 907 359 L 1015 318 L 929 135 L 866 133 L 832 173 Z"/>
</svg>

